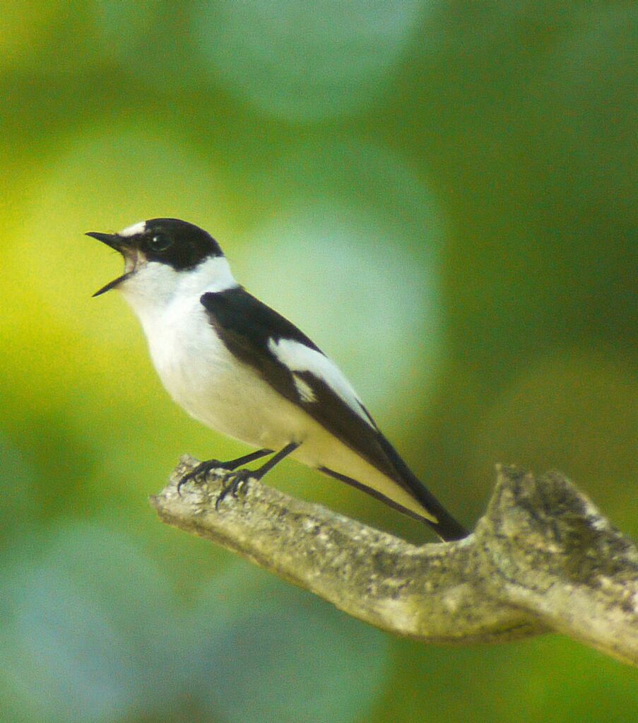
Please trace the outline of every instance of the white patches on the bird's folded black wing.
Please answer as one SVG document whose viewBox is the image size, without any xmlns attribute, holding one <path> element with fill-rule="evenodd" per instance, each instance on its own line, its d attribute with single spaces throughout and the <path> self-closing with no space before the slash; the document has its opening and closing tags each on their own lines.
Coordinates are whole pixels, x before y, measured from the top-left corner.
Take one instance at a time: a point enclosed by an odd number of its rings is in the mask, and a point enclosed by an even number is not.
<svg viewBox="0 0 638 723">
<path fill-rule="evenodd" d="M 320 351 L 316 351 L 316 349 L 312 349 L 293 339 L 280 339 L 279 341 L 269 339 L 268 348 L 291 372 L 311 372 L 317 379 L 322 380 L 366 424 L 374 428 L 374 424 L 363 409 L 357 393 L 334 361 L 328 359 Z M 298 385 L 298 382 L 303 380 L 298 379 L 296 375 L 293 375 L 293 378 L 297 391 L 303 398 L 303 393 Z M 304 384 L 309 386 L 306 382 Z M 310 391 L 314 397 L 311 389 Z"/>
</svg>

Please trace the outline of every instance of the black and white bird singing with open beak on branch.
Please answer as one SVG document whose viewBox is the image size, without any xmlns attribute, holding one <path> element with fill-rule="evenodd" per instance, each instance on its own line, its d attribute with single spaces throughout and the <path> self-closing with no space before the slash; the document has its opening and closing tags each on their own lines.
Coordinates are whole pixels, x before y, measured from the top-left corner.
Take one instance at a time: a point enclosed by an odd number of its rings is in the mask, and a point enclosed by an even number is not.
<svg viewBox="0 0 638 723">
<path fill-rule="evenodd" d="M 257 448 L 203 462 L 182 482 L 222 468 L 225 489 L 236 489 L 291 455 L 426 521 L 444 540 L 467 534 L 379 432 L 340 369 L 235 281 L 210 234 L 152 218 L 87 235 L 124 257 L 124 274 L 95 296 L 124 294 L 168 393 L 199 422 Z M 259 469 L 238 469 L 266 455 Z"/>
</svg>

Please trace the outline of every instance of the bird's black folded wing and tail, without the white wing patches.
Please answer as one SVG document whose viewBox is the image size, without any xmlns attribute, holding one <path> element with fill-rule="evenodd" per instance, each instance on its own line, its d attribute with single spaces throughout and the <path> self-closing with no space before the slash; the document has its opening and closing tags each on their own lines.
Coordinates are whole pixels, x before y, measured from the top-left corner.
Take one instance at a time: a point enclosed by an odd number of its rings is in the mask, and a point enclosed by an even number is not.
<svg viewBox="0 0 638 723">
<path fill-rule="evenodd" d="M 303 408 L 343 444 L 406 489 L 436 517 L 438 524 L 431 524 L 444 539 L 465 536 L 465 530 L 441 507 L 379 432 L 363 405 L 360 414 L 312 372 L 295 371 L 294 375 L 306 382 L 314 395 L 313 401 L 304 400 L 296 387 L 293 372 L 272 354 L 268 344 L 271 339 L 275 343 L 280 339 L 290 339 L 322 354 L 309 337 L 241 286 L 209 292 L 200 300 L 208 312 L 211 325 L 231 354 L 249 364 L 280 395 Z M 330 474 L 329 470 L 325 471 Z M 361 481 L 351 482 L 364 487 Z"/>
</svg>

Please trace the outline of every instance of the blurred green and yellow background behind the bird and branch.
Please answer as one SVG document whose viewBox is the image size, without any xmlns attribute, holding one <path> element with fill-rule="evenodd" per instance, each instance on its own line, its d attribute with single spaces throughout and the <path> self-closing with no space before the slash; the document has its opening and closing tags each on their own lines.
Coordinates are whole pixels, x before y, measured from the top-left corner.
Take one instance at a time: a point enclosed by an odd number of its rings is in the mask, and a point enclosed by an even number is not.
<svg viewBox="0 0 638 723">
<path fill-rule="evenodd" d="M 184 452 L 85 231 L 207 228 L 472 526 L 496 462 L 636 500 L 631 2 L 5 0 L 0 719 L 634 721 L 557 636 L 452 649 L 350 620 L 158 523 Z M 284 463 L 270 484 L 431 535 Z"/>
</svg>

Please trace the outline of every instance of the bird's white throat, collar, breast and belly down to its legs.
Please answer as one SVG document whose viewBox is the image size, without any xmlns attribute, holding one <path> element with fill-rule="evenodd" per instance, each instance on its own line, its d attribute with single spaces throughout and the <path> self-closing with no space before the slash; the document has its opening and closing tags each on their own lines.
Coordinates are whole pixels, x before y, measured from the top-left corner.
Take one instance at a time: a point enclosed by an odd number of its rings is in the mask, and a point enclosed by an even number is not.
<svg viewBox="0 0 638 723">
<path fill-rule="evenodd" d="M 191 416 L 256 447 L 301 442 L 308 415 L 230 354 L 199 301 L 207 291 L 234 286 L 228 262 L 216 257 L 197 273 L 148 264 L 122 291 L 142 322 L 166 390 Z"/>
</svg>

